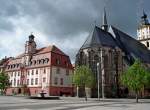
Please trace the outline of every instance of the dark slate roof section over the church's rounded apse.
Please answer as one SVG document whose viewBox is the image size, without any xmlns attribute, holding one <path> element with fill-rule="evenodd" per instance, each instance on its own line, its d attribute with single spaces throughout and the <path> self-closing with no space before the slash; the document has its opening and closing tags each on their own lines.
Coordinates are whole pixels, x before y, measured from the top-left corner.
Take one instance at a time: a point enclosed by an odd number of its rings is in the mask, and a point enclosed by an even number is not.
<svg viewBox="0 0 150 110">
<path fill-rule="evenodd" d="M 116 47 L 117 44 L 110 33 L 95 26 L 93 32 L 87 37 L 81 49 L 95 46 Z"/>
</svg>

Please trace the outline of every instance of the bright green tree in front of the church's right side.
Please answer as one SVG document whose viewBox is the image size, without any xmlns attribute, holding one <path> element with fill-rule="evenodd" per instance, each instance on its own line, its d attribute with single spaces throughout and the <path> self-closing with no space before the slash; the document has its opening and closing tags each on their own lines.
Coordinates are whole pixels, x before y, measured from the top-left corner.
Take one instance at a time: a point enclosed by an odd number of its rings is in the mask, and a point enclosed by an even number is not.
<svg viewBox="0 0 150 110">
<path fill-rule="evenodd" d="M 136 60 L 122 75 L 121 82 L 136 94 L 138 102 L 138 93 L 150 84 L 150 73 L 139 60 Z"/>
</svg>

